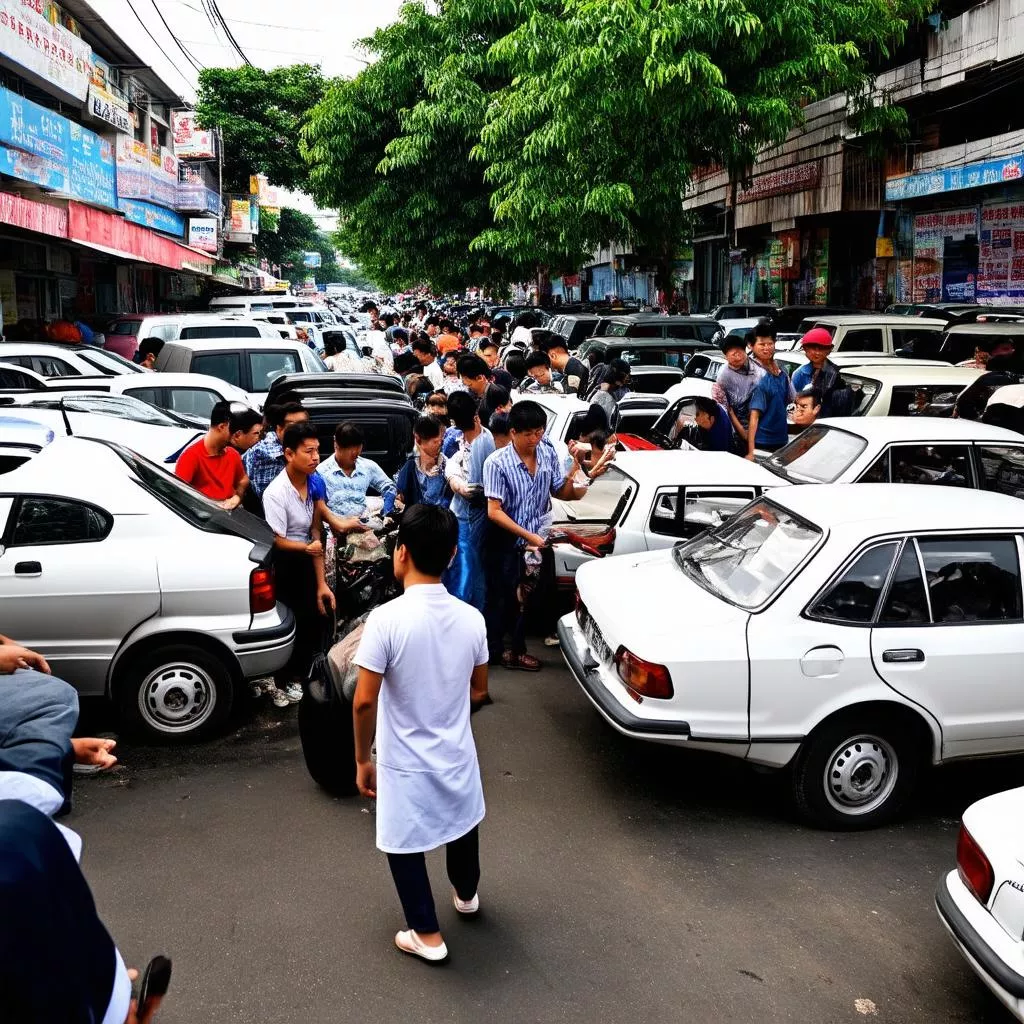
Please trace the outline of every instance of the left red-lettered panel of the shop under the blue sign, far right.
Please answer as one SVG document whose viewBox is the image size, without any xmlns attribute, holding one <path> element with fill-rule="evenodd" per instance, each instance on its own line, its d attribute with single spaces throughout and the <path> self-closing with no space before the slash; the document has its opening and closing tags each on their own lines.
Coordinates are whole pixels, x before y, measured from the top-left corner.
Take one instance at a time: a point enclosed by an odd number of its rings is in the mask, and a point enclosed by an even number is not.
<svg viewBox="0 0 1024 1024">
<path fill-rule="evenodd" d="M 913 218 L 914 302 L 973 302 L 977 268 L 977 207 Z"/>
</svg>

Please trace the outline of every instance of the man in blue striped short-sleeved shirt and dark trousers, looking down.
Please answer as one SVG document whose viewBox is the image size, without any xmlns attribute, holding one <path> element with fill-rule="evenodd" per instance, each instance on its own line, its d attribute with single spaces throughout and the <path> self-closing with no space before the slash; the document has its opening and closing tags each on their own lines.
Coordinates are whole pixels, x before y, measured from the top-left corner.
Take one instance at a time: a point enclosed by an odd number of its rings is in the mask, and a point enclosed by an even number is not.
<svg viewBox="0 0 1024 1024">
<path fill-rule="evenodd" d="M 526 653 L 526 634 L 519 588 L 527 563 L 536 563 L 547 545 L 541 530 L 552 498 L 575 501 L 587 493 L 573 477 L 580 456 L 568 472 L 551 444 L 542 444 L 547 427 L 544 409 L 536 401 L 517 401 L 509 413 L 512 443 L 487 457 L 483 490 L 490 530 L 484 551 L 487 648 L 492 665 L 539 672 L 541 663 Z M 510 636 L 505 646 L 506 634 Z"/>
</svg>

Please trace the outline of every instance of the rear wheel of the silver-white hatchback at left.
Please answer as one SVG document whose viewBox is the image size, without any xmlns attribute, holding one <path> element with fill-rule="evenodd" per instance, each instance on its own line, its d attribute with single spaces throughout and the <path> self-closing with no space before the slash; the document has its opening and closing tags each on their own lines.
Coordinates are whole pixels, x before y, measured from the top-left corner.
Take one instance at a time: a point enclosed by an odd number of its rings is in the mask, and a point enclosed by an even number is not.
<svg viewBox="0 0 1024 1024">
<path fill-rule="evenodd" d="M 165 742 L 215 732 L 230 714 L 232 696 L 223 663 L 207 650 L 183 644 L 156 647 L 132 658 L 120 687 L 128 728 Z"/>
</svg>

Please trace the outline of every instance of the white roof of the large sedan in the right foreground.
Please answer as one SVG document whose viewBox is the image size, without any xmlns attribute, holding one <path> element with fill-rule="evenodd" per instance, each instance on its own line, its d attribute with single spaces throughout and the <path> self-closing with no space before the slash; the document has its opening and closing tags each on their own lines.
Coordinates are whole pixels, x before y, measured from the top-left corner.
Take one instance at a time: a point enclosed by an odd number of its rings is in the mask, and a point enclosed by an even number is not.
<svg viewBox="0 0 1024 1024">
<path fill-rule="evenodd" d="M 943 487 L 940 498 L 936 500 L 934 484 L 919 483 L 815 483 L 779 487 L 768 496 L 815 525 L 848 528 L 862 537 L 890 530 L 1021 528 L 1019 498 L 973 487 Z"/>
</svg>

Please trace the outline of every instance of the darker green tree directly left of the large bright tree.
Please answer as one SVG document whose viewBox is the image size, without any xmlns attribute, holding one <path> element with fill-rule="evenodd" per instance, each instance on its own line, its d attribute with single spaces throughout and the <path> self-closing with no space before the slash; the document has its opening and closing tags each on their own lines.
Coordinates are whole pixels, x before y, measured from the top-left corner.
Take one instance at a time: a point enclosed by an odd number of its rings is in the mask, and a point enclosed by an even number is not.
<svg viewBox="0 0 1024 1024">
<path fill-rule="evenodd" d="M 381 287 L 437 291 L 529 273 L 536 260 L 472 248 L 493 226 L 492 188 L 470 154 L 504 84 L 487 52 L 519 4 L 407 3 L 362 47 L 373 57 L 331 85 L 303 132 L 312 196 L 341 215 L 339 248 Z"/>
</svg>

